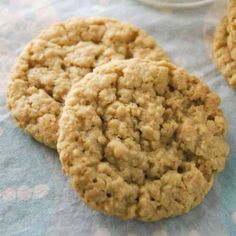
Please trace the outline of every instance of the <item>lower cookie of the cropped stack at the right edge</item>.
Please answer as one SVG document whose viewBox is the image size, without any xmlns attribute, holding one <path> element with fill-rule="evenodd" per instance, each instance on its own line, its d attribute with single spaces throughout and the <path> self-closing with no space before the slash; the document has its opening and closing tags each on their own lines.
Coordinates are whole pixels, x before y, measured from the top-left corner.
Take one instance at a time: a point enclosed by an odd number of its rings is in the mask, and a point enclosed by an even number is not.
<svg viewBox="0 0 236 236">
<path fill-rule="evenodd" d="M 228 39 L 228 18 L 224 17 L 217 27 L 213 39 L 213 55 L 215 62 L 225 76 L 228 83 L 236 88 L 236 61 L 233 60 L 227 44 Z"/>
</svg>

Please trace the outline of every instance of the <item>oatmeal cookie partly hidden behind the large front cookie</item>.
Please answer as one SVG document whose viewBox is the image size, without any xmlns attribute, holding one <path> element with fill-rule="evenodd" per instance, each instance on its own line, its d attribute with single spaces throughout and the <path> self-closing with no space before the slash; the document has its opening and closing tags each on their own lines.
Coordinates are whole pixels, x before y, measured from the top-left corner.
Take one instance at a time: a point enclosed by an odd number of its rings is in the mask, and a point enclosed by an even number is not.
<svg viewBox="0 0 236 236">
<path fill-rule="evenodd" d="M 165 53 L 142 30 L 113 19 L 72 19 L 33 39 L 12 72 L 8 106 L 19 127 L 55 147 L 58 117 L 70 86 L 114 59 L 160 60 Z"/>
</svg>

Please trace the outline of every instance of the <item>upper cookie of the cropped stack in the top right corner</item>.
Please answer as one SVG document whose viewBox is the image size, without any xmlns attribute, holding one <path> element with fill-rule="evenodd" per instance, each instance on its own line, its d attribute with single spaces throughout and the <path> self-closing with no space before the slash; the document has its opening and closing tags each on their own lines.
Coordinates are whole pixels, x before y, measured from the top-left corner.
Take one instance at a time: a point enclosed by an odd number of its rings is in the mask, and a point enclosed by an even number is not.
<svg viewBox="0 0 236 236">
<path fill-rule="evenodd" d="M 229 1 L 227 31 L 227 44 L 231 57 L 236 61 L 236 0 Z"/>
</svg>

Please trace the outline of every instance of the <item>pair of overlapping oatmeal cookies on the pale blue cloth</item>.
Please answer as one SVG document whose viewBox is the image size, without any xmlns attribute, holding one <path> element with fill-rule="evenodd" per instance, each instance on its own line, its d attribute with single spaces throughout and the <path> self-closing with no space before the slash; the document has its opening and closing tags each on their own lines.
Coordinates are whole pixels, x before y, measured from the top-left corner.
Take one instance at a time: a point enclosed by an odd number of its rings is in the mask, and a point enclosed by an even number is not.
<svg viewBox="0 0 236 236">
<path fill-rule="evenodd" d="M 17 125 L 57 148 L 90 207 L 156 221 L 202 202 L 229 147 L 220 99 L 141 29 L 72 19 L 21 53 L 8 89 Z"/>
</svg>

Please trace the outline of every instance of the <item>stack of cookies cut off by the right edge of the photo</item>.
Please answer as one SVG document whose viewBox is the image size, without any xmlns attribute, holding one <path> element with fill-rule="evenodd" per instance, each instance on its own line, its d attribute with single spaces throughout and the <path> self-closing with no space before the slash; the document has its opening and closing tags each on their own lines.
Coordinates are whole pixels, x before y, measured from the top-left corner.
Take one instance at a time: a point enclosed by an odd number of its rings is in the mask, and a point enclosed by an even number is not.
<svg viewBox="0 0 236 236">
<path fill-rule="evenodd" d="M 229 1 L 228 14 L 216 29 L 213 49 L 219 70 L 236 89 L 236 0 Z"/>
</svg>

